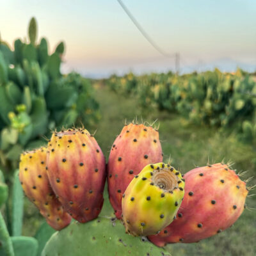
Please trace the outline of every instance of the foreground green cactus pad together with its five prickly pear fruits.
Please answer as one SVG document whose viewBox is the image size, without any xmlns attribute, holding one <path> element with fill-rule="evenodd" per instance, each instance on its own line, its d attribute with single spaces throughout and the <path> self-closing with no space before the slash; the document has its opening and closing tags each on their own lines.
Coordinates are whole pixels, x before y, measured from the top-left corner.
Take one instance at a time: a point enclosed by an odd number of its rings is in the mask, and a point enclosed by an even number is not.
<svg viewBox="0 0 256 256">
<path fill-rule="evenodd" d="M 161 247 L 214 236 L 242 214 L 249 188 L 227 164 L 182 175 L 162 159 L 159 131 L 137 123 L 124 126 L 107 165 L 84 128 L 52 132 L 47 147 L 23 152 L 24 193 L 59 230 L 42 255 L 170 255 Z M 99 217 L 106 178 L 116 218 Z"/>
</svg>

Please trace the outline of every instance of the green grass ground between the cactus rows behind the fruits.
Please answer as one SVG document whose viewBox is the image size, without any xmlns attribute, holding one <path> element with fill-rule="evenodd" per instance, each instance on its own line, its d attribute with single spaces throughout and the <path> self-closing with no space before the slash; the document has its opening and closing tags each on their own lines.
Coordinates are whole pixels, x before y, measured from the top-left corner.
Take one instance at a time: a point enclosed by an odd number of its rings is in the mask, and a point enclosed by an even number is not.
<svg viewBox="0 0 256 256">
<path fill-rule="evenodd" d="M 177 115 L 154 111 L 141 111 L 136 99 L 130 96 L 124 97 L 110 92 L 104 86 L 97 86 L 97 100 L 100 103 L 102 118 L 97 127 L 89 127 L 90 132 L 95 133 L 100 147 L 106 159 L 116 136 L 121 131 L 125 118 L 128 121 L 138 120 L 159 122 L 159 136 L 161 139 L 164 161 L 171 159 L 175 168 L 180 168 L 186 173 L 195 166 L 204 166 L 216 163 L 223 159 L 232 161 L 233 168 L 237 172 L 249 170 L 244 179 L 255 175 L 255 151 L 236 140 L 234 134 L 216 132 L 209 127 L 195 127 L 184 125 Z M 255 183 L 252 181 L 252 184 Z M 253 191 L 252 191 L 253 192 Z M 251 193 L 252 193 L 251 192 Z M 223 195 L 225 196 L 225 195 Z M 248 198 L 246 204 L 255 207 L 256 198 Z M 42 222 L 42 218 L 35 207 L 26 202 L 26 218 L 24 234 L 33 235 L 36 228 Z M 225 230 L 200 243 L 195 244 L 170 244 L 168 250 L 173 256 L 179 255 L 232 255 L 250 256 L 256 255 L 256 211 L 246 209 L 241 218 L 233 227 Z"/>
</svg>

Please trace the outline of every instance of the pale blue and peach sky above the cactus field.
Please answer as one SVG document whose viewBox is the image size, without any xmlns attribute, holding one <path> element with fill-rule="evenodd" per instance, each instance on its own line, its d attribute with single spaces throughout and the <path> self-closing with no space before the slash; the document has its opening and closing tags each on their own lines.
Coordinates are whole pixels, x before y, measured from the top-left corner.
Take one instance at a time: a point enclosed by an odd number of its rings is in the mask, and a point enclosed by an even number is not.
<svg viewBox="0 0 256 256">
<path fill-rule="evenodd" d="M 218 67 L 256 70 L 255 0 L 122 0 L 150 38 L 173 55 L 180 72 Z M 65 42 L 63 72 L 106 77 L 174 70 L 175 59 L 152 47 L 117 0 L 0 0 L 1 39 L 27 38 L 31 17 L 51 52 Z"/>
</svg>

